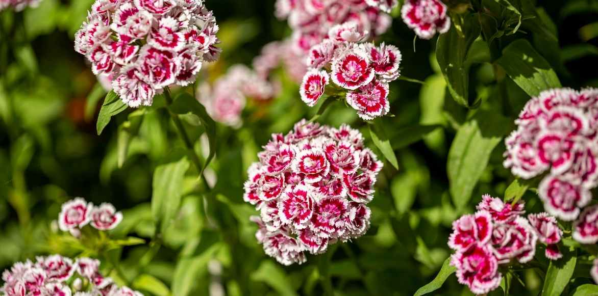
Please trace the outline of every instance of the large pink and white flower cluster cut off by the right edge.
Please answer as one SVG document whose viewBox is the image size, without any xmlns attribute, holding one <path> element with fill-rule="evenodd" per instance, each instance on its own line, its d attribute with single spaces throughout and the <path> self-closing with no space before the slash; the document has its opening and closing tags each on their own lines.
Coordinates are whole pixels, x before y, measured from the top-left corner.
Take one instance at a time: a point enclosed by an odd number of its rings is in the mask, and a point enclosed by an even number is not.
<svg viewBox="0 0 598 296">
<path fill-rule="evenodd" d="M 538 187 L 546 211 L 575 220 L 598 184 L 598 89 L 541 92 L 515 123 L 505 141 L 505 167 L 526 179 L 547 171 Z"/>
</svg>

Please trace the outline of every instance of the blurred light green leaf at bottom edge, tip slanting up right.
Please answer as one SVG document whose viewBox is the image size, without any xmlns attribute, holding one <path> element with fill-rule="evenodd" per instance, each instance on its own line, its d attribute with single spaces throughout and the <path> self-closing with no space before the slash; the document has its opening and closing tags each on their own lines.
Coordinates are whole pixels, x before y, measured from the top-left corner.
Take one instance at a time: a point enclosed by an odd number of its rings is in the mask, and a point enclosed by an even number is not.
<svg viewBox="0 0 598 296">
<path fill-rule="evenodd" d="M 220 248 L 220 243 L 214 243 L 200 255 L 179 260 L 172 276 L 172 295 L 189 295 L 197 280 L 208 272 L 208 262 Z"/>
</svg>

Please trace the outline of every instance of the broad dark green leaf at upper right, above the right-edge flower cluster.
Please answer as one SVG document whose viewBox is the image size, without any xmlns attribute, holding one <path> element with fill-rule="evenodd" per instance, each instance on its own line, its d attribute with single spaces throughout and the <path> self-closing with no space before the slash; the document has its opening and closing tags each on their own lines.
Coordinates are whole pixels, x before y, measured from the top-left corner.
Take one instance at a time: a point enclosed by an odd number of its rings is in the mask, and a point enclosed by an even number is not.
<svg viewBox="0 0 598 296">
<path fill-rule="evenodd" d="M 530 97 L 550 88 L 561 87 L 550 64 L 525 39 L 518 39 L 505 47 L 496 63 Z"/>
</svg>

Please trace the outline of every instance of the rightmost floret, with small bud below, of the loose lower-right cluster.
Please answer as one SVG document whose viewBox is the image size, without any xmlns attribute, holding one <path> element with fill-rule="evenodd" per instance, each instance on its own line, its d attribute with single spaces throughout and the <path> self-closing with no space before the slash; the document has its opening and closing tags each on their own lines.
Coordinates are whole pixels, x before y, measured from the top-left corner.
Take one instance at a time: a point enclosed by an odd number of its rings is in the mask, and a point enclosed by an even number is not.
<svg viewBox="0 0 598 296">
<path fill-rule="evenodd" d="M 527 220 L 532 225 L 536 235 L 538 235 L 538 239 L 547 245 L 546 258 L 557 260 L 563 257 L 563 254 L 559 251 L 559 246 L 556 245 L 563 236 L 563 230 L 557 225 L 556 218 L 548 215 L 548 213 L 541 212 L 527 215 Z"/>
</svg>

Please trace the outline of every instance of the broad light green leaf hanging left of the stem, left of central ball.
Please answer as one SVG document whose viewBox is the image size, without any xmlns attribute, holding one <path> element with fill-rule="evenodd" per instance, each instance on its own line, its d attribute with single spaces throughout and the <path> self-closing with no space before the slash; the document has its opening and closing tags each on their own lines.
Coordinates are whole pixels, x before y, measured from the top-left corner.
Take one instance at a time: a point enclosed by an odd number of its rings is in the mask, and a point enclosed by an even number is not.
<svg viewBox="0 0 598 296">
<path fill-rule="evenodd" d="M 188 168 L 187 158 L 182 158 L 178 162 L 160 165 L 154 171 L 151 210 L 157 232 L 163 232 L 169 226 L 179 209 L 183 179 Z"/>
</svg>

